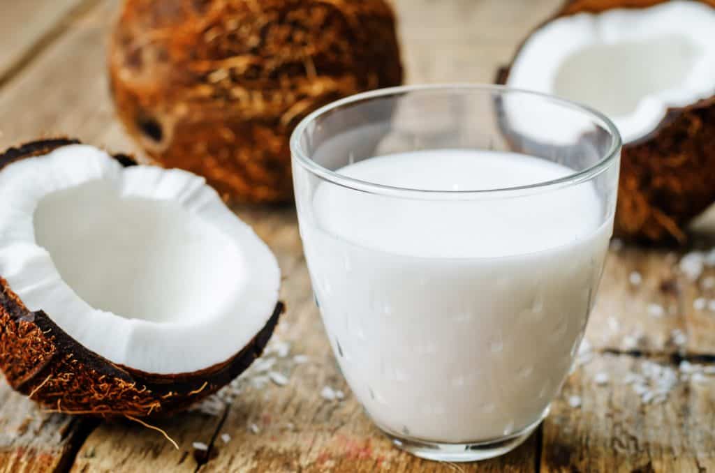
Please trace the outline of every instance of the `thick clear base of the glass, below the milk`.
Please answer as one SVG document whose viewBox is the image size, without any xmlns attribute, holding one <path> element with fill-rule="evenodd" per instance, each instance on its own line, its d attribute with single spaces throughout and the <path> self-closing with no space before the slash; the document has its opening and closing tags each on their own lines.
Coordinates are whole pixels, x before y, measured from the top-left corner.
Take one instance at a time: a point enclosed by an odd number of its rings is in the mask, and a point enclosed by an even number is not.
<svg viewBox="0 0 715 473">
<path fill-rule="evenodd" d="M 548 414 L 548 409 L 533 424 L 529 424 L 518 432 L 501 437 L 499 439 L 487 440 L 485 442 L 473 442 L 465 444 L 442 444 L 438 442 L 427 442 L 424 440 L 401 437 L 383 429 L 385 435 L 393 441 L 395 447 L 403 449 L 405 452 L 428 460 L 438 462 L 477 462 L 511 452 L 513 449 L 523 444 L 532 432 L 541 424 L 541 421 Z"/>
</svg>

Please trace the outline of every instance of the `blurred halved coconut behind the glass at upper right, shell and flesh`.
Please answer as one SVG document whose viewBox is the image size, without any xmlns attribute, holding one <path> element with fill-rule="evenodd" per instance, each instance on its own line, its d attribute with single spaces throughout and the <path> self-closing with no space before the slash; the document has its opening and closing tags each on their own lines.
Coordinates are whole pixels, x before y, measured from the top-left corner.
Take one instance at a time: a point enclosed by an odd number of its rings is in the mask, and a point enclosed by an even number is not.
<svg viewBox="0 0 715 473">
<path fill-rule="evenodd" d="M 614 233 L 683 243 L 715 201 L 715 1 L 573 0 L 498 82 L 608 115 L 623 136 Z"/>
</svg>

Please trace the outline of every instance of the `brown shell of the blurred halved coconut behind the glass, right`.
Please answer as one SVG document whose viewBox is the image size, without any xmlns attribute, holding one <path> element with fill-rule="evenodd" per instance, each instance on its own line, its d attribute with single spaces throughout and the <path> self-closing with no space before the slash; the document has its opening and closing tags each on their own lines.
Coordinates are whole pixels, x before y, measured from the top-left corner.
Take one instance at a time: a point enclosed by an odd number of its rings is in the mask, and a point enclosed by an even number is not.
<svg viewBox="0 0 715 473">
<path fill-rule="evenodd" d="M 561 16 L 647 8 L 664 1 L 571 0 L 537 30 Z M 701 1 L 715 8 L 715 0 Z M 521 46 L 515 59 L 519 51 Z M 502 68 L 496 82 L 506 84 L 508 74 L 509 67 Z M 641 243 L 683 244 L 690 221 L 715 201 L 714 182 L 715 97 L 669 109 L 655 131 L 623 144 L 614 235 Z"/>
</svg>

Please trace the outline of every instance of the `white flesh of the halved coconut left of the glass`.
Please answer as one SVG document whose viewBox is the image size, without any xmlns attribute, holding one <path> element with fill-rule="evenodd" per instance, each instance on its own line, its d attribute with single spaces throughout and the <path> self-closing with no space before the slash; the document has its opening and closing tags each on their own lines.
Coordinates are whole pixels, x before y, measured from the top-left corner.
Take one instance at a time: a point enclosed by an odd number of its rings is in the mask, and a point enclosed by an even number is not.
<svg viewBox="0 0 715 473">
<path fill-rule="evenodd" d="M 233 357 L 280 285 L 270 249 L 204 179 L 84 145 L 0 171 L 0 275 L 77 342 L 154 374 Z"/>
</svg>

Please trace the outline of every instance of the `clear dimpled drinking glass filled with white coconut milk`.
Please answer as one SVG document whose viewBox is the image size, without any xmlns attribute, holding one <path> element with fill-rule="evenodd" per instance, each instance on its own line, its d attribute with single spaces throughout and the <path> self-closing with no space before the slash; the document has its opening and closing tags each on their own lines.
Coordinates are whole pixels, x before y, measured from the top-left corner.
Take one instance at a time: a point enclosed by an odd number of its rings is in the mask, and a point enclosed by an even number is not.
<svg viewBox="0 0 715 473">
<path fill-rule="evenodd" d="M 291 149 L 315 302 L 375 424 L 450 462 L 523 442 L 596 298 L 615 126 L 528 91 L 405 86 L 323 107 Z"/>
</svg>

